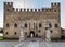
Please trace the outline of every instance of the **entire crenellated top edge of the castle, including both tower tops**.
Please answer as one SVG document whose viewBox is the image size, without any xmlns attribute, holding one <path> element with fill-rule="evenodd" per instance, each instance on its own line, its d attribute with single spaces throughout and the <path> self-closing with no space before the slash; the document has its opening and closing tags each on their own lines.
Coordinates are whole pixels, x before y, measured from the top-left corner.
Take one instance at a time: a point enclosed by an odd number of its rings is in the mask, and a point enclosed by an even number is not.
<svg viewBox="0 0 65 47">
<path fill-rule="evenodd" d="M 12 8 L 13 8 L 13 2 L 4 2 L 4 5 L 12 5 Z M 41 11 L 50 11 L 51 12 L 51 10 L 52 10 L 52 8 L 54 8 L 54 7 L 60 7 L 60 2 L 52 2 L 51 3 L 51 8 L 41 8 L 41 9 L 26 9 L 26 8 L 24 8 L 24 9 L 18 9 L 18 8 L 13 8 L 13 11 L 16 11 L 16 12 L 41 12 Z"/>
</svg>

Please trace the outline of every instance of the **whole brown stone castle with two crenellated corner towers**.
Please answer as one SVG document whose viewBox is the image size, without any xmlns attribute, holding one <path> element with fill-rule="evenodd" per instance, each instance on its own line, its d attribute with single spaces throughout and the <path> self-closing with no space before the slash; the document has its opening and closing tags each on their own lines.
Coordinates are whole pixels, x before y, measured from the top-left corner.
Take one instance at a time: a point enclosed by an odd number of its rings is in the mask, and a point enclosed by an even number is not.
<svg viewBox="0 0 65 47">
<path fill-rule="evenodd" d="M 51 38 L 61 38 L 61 4 L 51 3 L 51 8 L 41 9 L 15 9 L 13 2 L 4 2 L 3 36 L 6 38 L 46 37 L 49 31 Z"/>
</svg>

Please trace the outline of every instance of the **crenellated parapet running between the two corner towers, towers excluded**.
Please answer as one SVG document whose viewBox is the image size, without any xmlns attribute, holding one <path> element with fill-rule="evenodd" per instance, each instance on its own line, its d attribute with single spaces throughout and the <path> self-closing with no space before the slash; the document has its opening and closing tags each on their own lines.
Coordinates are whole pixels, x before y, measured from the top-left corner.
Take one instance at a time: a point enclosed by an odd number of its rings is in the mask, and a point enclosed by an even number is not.
<svg viewBox="0 0 65 47">
<path fill-rule="evenodd" d="M 13 8 L 14 11 L 16 12 L 42 12 L 42 11 L 51 11 L 50 8 L 41 8 L 41 9 L 18 9 L 18 8 Z"/>
</svg>

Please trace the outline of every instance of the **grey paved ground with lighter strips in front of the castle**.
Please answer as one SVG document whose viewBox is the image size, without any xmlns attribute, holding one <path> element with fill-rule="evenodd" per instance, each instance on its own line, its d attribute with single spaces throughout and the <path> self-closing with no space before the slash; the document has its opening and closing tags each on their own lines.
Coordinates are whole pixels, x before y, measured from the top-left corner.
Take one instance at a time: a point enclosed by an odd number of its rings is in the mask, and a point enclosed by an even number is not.
<svg viewBox="0 0 65 47">
<path fill-rule="evenodd" d="M 0 42 L 0 47 L 65 47 L 65 42 Z"/>
</svg>

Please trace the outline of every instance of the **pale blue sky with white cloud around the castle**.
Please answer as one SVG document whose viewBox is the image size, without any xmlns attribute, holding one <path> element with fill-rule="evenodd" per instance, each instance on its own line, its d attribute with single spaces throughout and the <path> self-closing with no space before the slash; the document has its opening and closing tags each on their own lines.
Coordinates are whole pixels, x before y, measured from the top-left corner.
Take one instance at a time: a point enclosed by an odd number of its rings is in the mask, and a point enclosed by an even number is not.
<svg viewBox="0 0 65 47">
<path fill-rule="evenodd" d="M 61 2 L 61 27 L 65 28 L 65 0 L 0 0 L 0 27 L 3 27 L 3 2 L 14 2 L 14 8 L 48 8 L 51 2 Z"/>
</svg>

